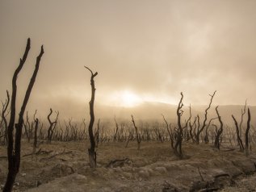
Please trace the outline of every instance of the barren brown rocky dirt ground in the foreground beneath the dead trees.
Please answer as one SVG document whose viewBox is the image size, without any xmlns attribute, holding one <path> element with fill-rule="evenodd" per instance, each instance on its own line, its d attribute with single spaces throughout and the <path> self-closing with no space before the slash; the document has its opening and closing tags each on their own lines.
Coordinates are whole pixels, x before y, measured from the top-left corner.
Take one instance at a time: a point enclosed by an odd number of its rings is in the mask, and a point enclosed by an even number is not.
<svg viewBox="0 0 256 192">
<path fill-rule="evenodd" d="M 40 144 L 36 155 L 23 141 L 14 191 L 256 191 L 256 150 L 184 144 L 178 160 L 170 143 L 99 144 L 98 167 L 88 165 L 86 142 Z M 115 161 L 124 160 L 124 161 Z M 112 162 L 112 164 L 110 164 Z M 0 185 L 7 173 L 6 148 L 0 147 Z"/>
</svg>

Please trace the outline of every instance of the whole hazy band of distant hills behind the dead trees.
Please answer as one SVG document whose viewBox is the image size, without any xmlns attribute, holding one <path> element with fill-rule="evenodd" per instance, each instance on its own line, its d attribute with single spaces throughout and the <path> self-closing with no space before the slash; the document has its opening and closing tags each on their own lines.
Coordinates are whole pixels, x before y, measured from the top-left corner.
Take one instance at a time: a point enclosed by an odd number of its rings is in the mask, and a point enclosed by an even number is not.
<svg viewBox="0 0 256 192">
<path fill-rule="evenodd" d="M 27 111 L 29 111 L 29 115 L 33 115 L 34 111 L 38 110 L 38 117 L 40 119 L 46 119 L 49 108 L 51 107 L 53 111 L 60 111 L 60 119 L 69 119 L 72 118 L 74 121 L 81 121 L 82 119 L 86 119 L 88 121 L 90 119 L 89 115 L 89 103 L 88 102 L 81 102 L 81 101 L 74 101 L 70 99 L 61 99 L 57 98 L 57 100 L 52 101 L 52 105 L 47 104 L 47 102 L 41 102 L 44 104 L 36 105 L 35 103 L 31 103 L 31 106 L 28 107 Z M 231 115 L 234 115 L 237 118 L 237 121 L 240 122 L 241 120 L 241 109 L 244 106 L 238 105 L 226 105 L 226 106 L 219 106 L 220 116 L 223 119 L 224 123 L 233 125 L 233 119 Z M 196 115 L 199 114 L 200 119 L 204 119 L 204 111 L 207 106 L 193 106 L 191 105 L 191 113 L 192 119 L 195 118 Z M 112 119 L 116 117 L 116 119 L 128 119 L 131 120 L 131 115 L 134 116 L 135 119 L 141 120 L 161 120 L 162 115 L 165 115 L 168 122 L 174 123 L 177 119 L 176 115 L 177 106 L 170 105 L 167 103 L 162 102 L 143 102 L 138 106 L 134 107 L 122 107 L 122 106 L 107 106 L 102 105 L 99 102 L 95 102 L 94 105 L 94 113 L 95 119 Z M 189 115 L 189 106 L 183 106 L 183 117 L 182 119 L 188 119 Z M 255 125 L 256 127 L 256 106 L 250 106 L 251 111 L 251 124 Z M 54 114 L 55 115 L 55 114 Z M 209 119 L 212 117 L 216 117 L 215 106 L 212 106 L 209 110 Z M 31 116 L 32 118 L 32 116 Z M 244 123 L 247 120 L 247 112 L 244 118 Z"/>
</svg>

